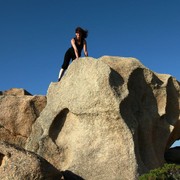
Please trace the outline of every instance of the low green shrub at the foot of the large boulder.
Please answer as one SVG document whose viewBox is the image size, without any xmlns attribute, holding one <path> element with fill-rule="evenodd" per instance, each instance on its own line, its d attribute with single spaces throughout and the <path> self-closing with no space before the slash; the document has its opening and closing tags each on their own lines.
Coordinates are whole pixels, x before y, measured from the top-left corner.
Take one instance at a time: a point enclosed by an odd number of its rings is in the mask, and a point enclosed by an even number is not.
<svg viewBox="0 0 180 180">
<path fill-rule="evenodd" d="M 151 170 L 139 177 L 139 180 L 179 180 L 180 165 L 164 164 L 163 167 Z"/>
</svg>

